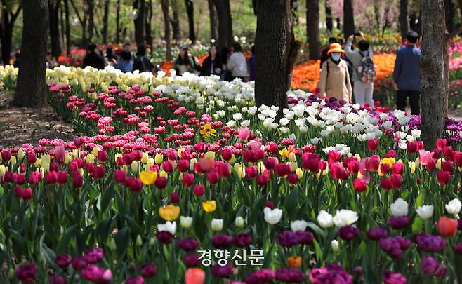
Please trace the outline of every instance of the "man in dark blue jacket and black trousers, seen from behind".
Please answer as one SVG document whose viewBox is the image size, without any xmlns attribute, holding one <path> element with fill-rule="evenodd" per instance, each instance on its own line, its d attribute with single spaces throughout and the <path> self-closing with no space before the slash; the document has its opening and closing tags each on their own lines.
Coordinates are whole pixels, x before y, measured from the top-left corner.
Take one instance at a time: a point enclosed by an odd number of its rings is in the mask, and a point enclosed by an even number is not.
<svg viewBox="0 0 462 284">
<path fill-rule="evenodd" d="M 396 52 L 395 70 L 393 81 L 397 85 L 396 104 L 397 109 L 406 111 L 407 98 L 411 105 L 411 114 L 419 115 L 421 93 L 421 50 L 416 47 L 418 34 L 409 31 L 406 36 L 407 45 Z"/>
</svg>

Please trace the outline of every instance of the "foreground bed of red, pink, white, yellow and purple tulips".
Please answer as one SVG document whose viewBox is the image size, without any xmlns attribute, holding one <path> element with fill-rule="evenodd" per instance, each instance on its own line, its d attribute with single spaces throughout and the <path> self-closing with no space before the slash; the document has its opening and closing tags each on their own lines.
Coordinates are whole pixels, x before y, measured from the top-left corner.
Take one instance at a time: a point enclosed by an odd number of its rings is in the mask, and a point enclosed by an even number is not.
<svg viewBox="0 0 462 284">
<path fill-rule="evenodd" d="M 0 67 L 3 88 L 18 69 Z M 80 133 L 0 148 L 0 283 L 462 283 L 462 123 L 253 82 L 47 69 Z M 278 112 L 282 116 L 278 116 Z M 1 146 L 1 145 L 0 145 Z"/>
</svg>

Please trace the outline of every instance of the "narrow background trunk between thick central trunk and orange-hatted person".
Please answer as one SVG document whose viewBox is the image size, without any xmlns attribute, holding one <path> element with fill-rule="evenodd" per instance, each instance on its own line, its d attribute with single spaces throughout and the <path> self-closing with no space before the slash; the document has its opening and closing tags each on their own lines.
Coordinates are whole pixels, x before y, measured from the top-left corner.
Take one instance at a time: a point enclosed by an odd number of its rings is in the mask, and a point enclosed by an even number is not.
<svg viewBox="0 0 462 284">
<path fill-rule="evenodd" d="M 321 43 L 319 42 L 319 0 L 306 0 L 306 18 L 310 59 L 318 60 L 321 58 Z"/>
</svg>

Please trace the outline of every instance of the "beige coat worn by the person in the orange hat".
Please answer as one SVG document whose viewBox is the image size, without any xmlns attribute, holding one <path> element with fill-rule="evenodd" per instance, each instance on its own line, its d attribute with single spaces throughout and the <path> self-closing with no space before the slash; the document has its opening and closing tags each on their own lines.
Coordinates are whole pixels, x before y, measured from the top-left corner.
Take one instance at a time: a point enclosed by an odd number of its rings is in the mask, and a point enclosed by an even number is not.
<svg viewBox="0 0 462 284">
<path fill-rule="evenodd" d="M 327 74 L 327 65 L 329 64 L 329 75 Z M 322 64 L 321 81 L 319 81 L 319 95 L 327 97 L 336 97 L 337 100 L 351 102 L 351 83 L 348 66 L 345 60 L 340 60 L 338 65 L 329 58 Z"/>
</svg>

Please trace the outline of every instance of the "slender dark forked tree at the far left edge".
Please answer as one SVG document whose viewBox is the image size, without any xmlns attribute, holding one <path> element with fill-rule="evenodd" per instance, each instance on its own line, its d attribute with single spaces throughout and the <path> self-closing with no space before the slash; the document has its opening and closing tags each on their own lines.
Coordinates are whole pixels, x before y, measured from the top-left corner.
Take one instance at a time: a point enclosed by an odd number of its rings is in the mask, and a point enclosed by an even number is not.
<svg viewBox="0 0 462 284">
<path fill-rule="evenodd" d="M 17 3 L 18 2 L 18 3 Z M 22 2 L 11 0 L 1 0 L 1 22 L 0 22 L 0 41 L 1 41 L 1 60 L 4 65 L 10 64 L 11 44 L 13 40 L 13 27 L 22 9 Z M 17 5 L 17 8 L 13 6 Z"/>
</svg>

